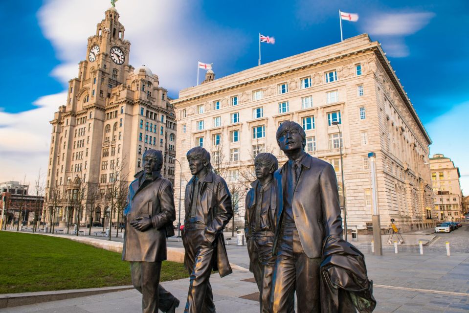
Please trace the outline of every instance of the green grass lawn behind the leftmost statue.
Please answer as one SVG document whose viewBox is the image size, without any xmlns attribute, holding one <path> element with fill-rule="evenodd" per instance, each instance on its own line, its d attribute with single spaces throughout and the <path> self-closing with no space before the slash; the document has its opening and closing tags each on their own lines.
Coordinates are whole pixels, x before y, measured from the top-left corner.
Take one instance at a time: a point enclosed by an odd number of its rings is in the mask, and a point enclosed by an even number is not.
<svg viewBox="0 0 469 313">
<path fill-rule="evenodd" d="M 188 277 L 163 262 L 161 281 Z M 121 254 L 64 238 L 0 231 L 0 293 L 132 285 Z"/>
</svg>

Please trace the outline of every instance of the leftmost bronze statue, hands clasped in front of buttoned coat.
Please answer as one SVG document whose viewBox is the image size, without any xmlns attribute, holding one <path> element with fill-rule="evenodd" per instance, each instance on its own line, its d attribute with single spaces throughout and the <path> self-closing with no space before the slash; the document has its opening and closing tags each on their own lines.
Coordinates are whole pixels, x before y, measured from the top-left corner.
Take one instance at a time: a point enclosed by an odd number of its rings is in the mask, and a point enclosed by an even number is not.
<svg viewBox="0 0 469 313">
<path fill-rule="evenodd" d="M 124 209 L 126 228 L 122 259 L 131 262 L 132 283 L 142 293 L 142 312 L 174 313 L 179 300 L 159 285 L 161 262 L 167 259 L 166 237 L 174 236 L 173 186 L 161 176 L 163 156 L 143 154 L 143 171 L 129 186 Z"/>
</svg>

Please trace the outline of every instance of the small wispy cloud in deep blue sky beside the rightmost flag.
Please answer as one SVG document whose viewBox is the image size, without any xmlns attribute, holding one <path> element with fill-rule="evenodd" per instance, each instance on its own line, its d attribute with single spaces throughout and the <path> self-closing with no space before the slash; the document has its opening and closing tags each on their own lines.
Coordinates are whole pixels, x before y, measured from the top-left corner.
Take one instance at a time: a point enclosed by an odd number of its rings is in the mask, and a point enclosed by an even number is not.
<svg viewBox="0 0 469 313">
<path fill-rule="evenodd" d="M 403 58 L 409 55 L 409 49 L 404 43 L 405 36 L 424 28 L 434 16 L 432 12 L 376 13 L 365 19 L 363 31 L 378 36 L 389 56 Z"/>
</svg>

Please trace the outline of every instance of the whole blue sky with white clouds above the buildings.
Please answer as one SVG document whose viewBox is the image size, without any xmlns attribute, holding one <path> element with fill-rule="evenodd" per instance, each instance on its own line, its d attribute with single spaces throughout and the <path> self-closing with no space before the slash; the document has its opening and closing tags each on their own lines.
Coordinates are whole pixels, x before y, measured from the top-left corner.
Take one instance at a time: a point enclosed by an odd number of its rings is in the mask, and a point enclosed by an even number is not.
<svg viewBox="0 0 469 313">
<path fill-rule="evenodd" d="M 48 121 L 108 7 L 107 0 L 0 2 L 0 137 L 8 138 L 0 142 L 8 168 L 0 181 L 33 181 L 46 170 Z M 357 23 L 344 22 L 344 38 L 368 33 L 380 41 L 433 139 L 431 153 L 455 161 L 469 193 L 467 0 L 119 0 L 116 8 L 132 43 L 130 64 L 149 66 L 173 97 L 195 85 L 197 60 L 223 77 L 257 65 L 259 32 L 276 38 L 262 46 L 267 63 L 340 41 L 338 9 L 358 13 Z"/>
</svg>

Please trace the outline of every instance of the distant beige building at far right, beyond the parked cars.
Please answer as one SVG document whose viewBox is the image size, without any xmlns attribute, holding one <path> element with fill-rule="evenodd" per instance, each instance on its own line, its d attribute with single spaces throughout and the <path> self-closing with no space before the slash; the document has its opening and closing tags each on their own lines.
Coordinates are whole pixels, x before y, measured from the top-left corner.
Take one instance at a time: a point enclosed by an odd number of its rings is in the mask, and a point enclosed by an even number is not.
<svg viewBox="0 0 469 313">
<path fill-rule="evenodd" d="M 464 218 L 459 168 L 449 157 L 435 154 L 430 158 L 435 210 L 440 220 L 460 221 Z"/>
</svg>

